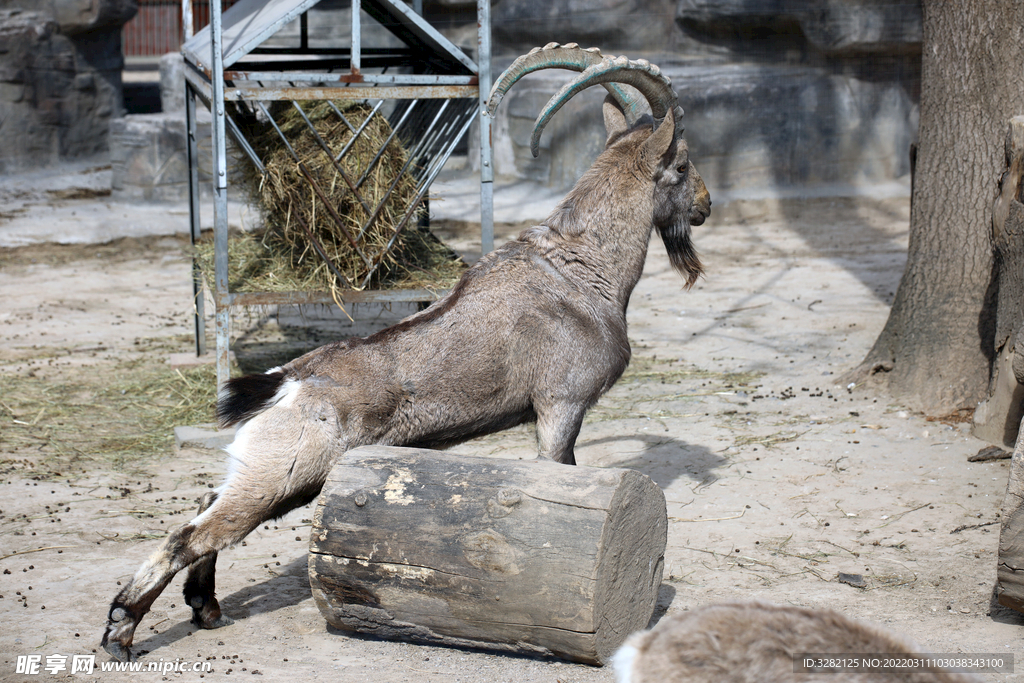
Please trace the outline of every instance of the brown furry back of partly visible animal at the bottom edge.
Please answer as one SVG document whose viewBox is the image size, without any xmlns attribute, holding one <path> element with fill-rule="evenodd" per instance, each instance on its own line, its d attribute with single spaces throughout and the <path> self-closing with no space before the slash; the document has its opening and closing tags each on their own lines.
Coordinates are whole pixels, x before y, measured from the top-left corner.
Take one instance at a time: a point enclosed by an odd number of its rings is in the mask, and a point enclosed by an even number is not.
<svg viewBox="0 0 1024 683">
<path fill-rule="evenodd" d="M 794 660 L 796 655 L 801 656 Z M 851 655 L 879 666 L 851 671 Z M 869 655 L 869 656 L 868 656 Z M 921 650 L 884 629 L 831 610 L 766 602 L 706 605 L 662 620 L 613 657 L 618 683 L 977 683 L 927 664 Z M 805 659 L 811 659 L 805 663 Z M 815 661 L 817 659 L 817 661 Z M 879 671 L 887 660 L 893 672 Z M 899 664 L 896 664 L 899 663 Z M 851 667 L 852 668 L 852 667 Z M 837 678 L 837 673 L 840 674 Z"/>
</svg>

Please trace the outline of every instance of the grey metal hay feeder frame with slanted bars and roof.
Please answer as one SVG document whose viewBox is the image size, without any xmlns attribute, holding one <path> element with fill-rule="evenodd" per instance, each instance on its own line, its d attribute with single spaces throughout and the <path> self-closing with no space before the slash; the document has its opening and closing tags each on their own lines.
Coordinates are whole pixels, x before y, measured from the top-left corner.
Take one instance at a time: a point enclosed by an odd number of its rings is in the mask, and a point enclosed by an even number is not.
<svg viewBox="0 0 1024 683">
<path fill-rule="evenodd" d="M 420 0 L 417 0 L 419 3 Z M 229 311 L 232 306 L 333 303 L 330 292 L 231 292 L 228 288 L 227 249 L 227 185 L 226 135 L 229 132 L 245 157 L 263 171 L 263 160 L 247 137 L 245 126 L 236 120 L 240 112 L 267 121 L 281 136 L 294 157 L 297 167 L 317 196 L 340 233 L 351 243 L 365 265 L 357 278 L 338 271 L 323 246 L 309 229 L 301 225 L 311 248 L 338 276 L 339 282 L 352 287 L 344 292 L 351 303 L 424 302 L 438 297 L 427 290 L 364 289 L 381 266 L 388 249 L 423 205 L 431 182 L 466 134 L 474 120 L 480 124 L 480 224 L 483 253 L 494 246 L 493 179 L 490 165 L 489 119 L 479 116 L 490 83 L 490 20 L 489 0 L 477 0 L 477 54 L 474 61 L 452 44 L 422 16 L 419 8 L 411 8 L 401 0 L 353 0 L 350 44 L 346 46 L 311 47 L 307 11 L 319 0 L 240 0 L 221 12 L 220 2 L 211 2 L 209 26 L 186 36 L 182 45 L 185 61 L 185 102 L 188 134 L 189 203 L 191 238 L 200 239 L 200 187 L 196 140 L 196 99 L 201 99 L 213 117 L 213 205 L 214 205 L 214 284 L 212 297 L 215 307 L 217 384 L 228 379 Z M 190 31 L 191 0 L 183 0 L 186 31 Z M 361 9 L 361 11 L 359 11 Z M 361 14 L 380 24 L 398 39 L 400 47 L 364 47 Z M 299 19 L 299 45 L 290 47 L 264 45 L 286 25 Z M 330 147 L 316 132 L 307 116 L 310 105 L 327 100 L 346 126 L 351 140 L 340 152 Z M 234 116 L 225 106 L 236 104 Z M 298 112 L 325 155 L 368 218 L 352 225 L 330 209 L 324 188 L 304 168 L 289 144 L 272 108 L 266 102 L 286 101 Z M 338 101 L 366 102 L 371 113 L 366 121 L 351 123 L 334 104 Z M 280 116 L 280 115 L 279 115 Z M 369 161 L 361 173 L 353 174 L 342 168 L 342 161 L 366 124 L 373 117 L 385 117 L 391 128 L 390 137 L 380 152 Z M 400 140 L 408 151 L 408 160 L 383 198 L 370 199 L 362 193 L 364 183 L 380 162 L 384 148 L 392 138 Z M 398 179 L 412 178 L 415 193 L 393 217 L 388 226 L 388 239 L 380 245 L 366 246 L 360 238 L 380 220 L 385 202 Z M 205 321 L 203 280 L 194 266 L 194 301 L 196 306 L 196 349 L 205 353 Z"/>
</svg>

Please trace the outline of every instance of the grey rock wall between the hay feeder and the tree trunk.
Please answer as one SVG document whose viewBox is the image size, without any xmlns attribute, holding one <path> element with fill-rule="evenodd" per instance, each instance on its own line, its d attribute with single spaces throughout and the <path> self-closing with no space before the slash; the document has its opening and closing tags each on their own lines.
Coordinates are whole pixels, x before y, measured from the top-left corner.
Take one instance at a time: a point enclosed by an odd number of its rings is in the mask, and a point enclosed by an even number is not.
<svg viewBox="0 0 1024 683">
<path fill-rule="evenodd" d="M 637 1 L 660 11 L 656 0 Z M 518 6 L 512 24 L 527 24 L 527 4 L 516 2 L 527 0 L 499 0 L 495 11 L 511 16 Z M 677 0 L 674 11 L 671 49 L 652 40 L 625 51 L 672 78 L 691 158 L 713 196 L 846 194 L 906 178 L 921 88 L 919 2 Z M 567 40 L 571 23 L 553 16 L 536 23 L 526 42 Z M 521 40 L 501 42 L 500 25 L 496 76 L 525 49 Z M 613 30 L 590 43 L 624 51 Z M 568 77 L 532 75 L 506 97 L 495 122 L 499 175 L 568 188 L 603 147 L 603 91 L 593 88 L 555 117 L 541 157 L 529 153 L 534 119 Z"/>
</svg>

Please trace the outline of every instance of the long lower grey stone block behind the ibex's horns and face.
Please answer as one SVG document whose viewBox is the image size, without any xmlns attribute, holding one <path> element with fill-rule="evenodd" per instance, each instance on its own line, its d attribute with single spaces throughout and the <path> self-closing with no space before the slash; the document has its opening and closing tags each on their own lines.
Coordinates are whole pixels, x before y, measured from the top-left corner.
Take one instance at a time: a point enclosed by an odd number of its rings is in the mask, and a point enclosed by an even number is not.
<svg viewBox="0 0 1024 683">
<path fill-rule="evenodd" d="M 658 61 L 685 110 L 690 158 L 713 198 L 870 185 L 909 172 L 918 105 L 905 84 L 824 68 Z M 529 152 L 535 118 L 571 76 L 541 72 L 509 91 L 494 128 L 500 176 L 568 189 L 604 148 L 604 90 L 595 87 L 552 119 L 538 159 Z"/>
</svg>

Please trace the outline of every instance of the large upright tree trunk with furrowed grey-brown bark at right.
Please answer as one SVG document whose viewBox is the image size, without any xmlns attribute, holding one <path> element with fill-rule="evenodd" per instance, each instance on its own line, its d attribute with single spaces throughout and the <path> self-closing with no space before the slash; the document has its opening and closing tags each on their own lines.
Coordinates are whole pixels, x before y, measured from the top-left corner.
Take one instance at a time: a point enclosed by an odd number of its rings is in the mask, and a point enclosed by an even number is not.
<svg viewBox="0 0 1024 683">
<path fill-rule="evenodd" d="M 930 415 L 985 398 L 995 352 L 992 200 L 1024 113 L 1024 3 L 924 1 L 921 128 L 906 269 L 850 379 Z"/>
</svg>

